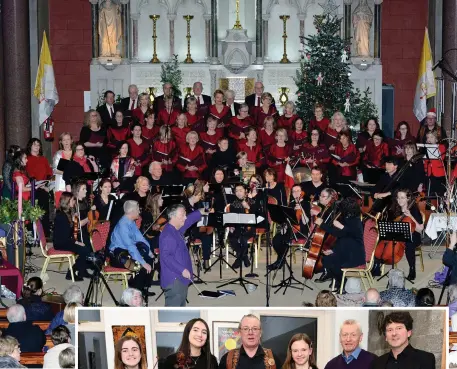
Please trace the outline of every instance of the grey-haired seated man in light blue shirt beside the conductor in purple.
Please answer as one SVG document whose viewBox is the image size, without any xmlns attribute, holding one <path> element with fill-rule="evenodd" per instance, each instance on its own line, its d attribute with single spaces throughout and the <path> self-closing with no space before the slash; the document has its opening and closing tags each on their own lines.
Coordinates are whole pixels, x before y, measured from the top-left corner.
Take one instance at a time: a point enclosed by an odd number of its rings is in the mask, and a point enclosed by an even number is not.
<svg viewBox="0 0 457 369">
<path fill-rule="evenodd" d="M 148 241 L 135 223 L 139 216 L 138 202 L 127 200 L 124 203 L 124 216 L 116 224 L 111 234 L 109 251 L 111 265 L 114 267 L 135 270 L 137 264 L 140 265 L 140 270 L 129 281 L 129 285 L 142 291 L 144 297 L 147 298 L 155 295 L 154 292 L 148 292 L 152 282 L 154 256 Z"/>
</svg>

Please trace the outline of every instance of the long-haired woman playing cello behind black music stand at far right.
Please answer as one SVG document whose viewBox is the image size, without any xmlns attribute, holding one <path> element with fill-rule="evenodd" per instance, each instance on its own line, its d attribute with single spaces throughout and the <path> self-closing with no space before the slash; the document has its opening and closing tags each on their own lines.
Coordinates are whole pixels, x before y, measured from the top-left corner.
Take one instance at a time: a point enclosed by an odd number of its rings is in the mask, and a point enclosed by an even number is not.
<svg viewBox="0 0 457 369">
<path fill-rule="evenodd" d="M 409 265 L 408 279 L 414 280 L 416 278 L 416 248 L 421 244 L 421 232 L 424 229 L 422 214 L 415 202 L 412 192 L 409 189 L 403 188 L 396 191 L 393 196 L 392 204 L 388 212 L 388 218 L 391 221 L 407 221 L 411 223 L 412 241 L 406 242 L 404 245 L 398 242 L 395 245 L 396 249 L 403 248 L 406 254 L 406 260 Z M 382 247 L 379 245 L 378 247 Z M 392 244 L 387 246 L 384 253 L 392 256 Z M 375 264 L 371 274 L 373 276 L 381 275 L 381 264 L 384 260 L 375 258 Z"/>
</svg>

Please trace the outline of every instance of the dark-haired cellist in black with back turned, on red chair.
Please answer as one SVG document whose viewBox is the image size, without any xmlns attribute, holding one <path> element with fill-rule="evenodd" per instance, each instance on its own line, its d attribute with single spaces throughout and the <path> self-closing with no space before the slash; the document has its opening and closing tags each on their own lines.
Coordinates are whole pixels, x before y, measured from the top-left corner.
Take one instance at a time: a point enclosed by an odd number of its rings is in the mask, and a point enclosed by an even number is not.
<svg viewBox="0 0 457 369">
<path fill-rule="evenodd" d="M 331 250 L 322 251 L 324 272 L 315 282 L 335 279 L 335 289 L 341 287 L 343 272 L 341 268 L 354 268 L 365 265 L 365 247 L 363 244 L 363 225 L 360 206 L 354 198 L 345 198 L 339 206 L 340 216 L 333 224 L 324 223 L 322 218 L 314 222 L 326 233 L 336 237 Z"/>
</svg>

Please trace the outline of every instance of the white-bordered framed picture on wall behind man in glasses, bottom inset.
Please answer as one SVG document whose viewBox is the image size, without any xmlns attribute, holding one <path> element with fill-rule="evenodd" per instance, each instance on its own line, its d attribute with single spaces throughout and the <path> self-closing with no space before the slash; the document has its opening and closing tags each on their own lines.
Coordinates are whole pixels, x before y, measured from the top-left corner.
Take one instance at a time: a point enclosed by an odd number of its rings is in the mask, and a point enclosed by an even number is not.
<svg viewBox="0 0 457 369">
<path fill-rule="evenodd" d="M 217 361 L 235 348 L 241 347 L 241 336 L 238 331 L 239 322 L 213 321 L 213 355 Z"/>
</svg>

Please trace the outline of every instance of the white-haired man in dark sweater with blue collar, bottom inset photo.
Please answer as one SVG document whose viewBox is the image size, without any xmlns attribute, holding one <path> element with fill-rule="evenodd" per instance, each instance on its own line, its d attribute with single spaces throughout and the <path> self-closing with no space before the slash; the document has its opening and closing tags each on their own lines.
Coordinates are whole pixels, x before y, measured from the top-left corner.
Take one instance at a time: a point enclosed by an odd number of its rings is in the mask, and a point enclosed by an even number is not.
<svg viewBox="0 0 457 369">
<path fill-rule="evenodd" d="M 377 356 L 360 347 L 362 338 L 360 323 L 353 319 L 345 320 L 340 328 L 340 344 L 343 352 L 330 360 L 325 369 L 369 368 Z"/>
</svg>

